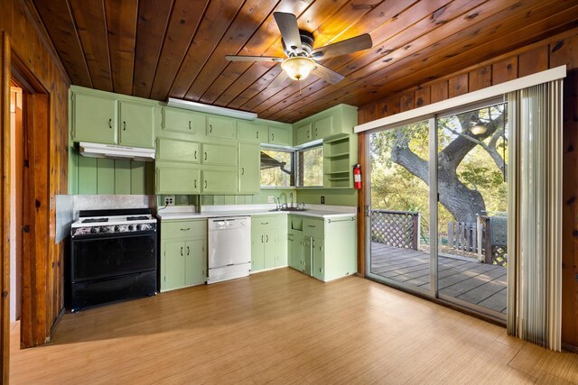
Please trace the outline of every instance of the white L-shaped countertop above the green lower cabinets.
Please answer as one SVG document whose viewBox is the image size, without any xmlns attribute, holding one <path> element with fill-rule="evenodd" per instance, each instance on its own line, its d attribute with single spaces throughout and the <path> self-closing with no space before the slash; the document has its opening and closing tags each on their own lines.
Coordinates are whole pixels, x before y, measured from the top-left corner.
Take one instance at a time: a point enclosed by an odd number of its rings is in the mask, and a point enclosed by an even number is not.
<svg viewBox="0 0 578 385">
<path fill-rule="evenodd" d="M 327 209 L 325 209 L 327 207 Z M 215 218 L 219 216 L 253 216 L 253 215 L 303 215 L 317 218 L 337 218 L 342 216 L 356 215 L 356 207 L 344 206 L 325 206 L 322 209 L 319 206 L 307 208 L 307 211 L 270 211 L 275 205 L 243 205 L 243 206 L 211 206 L 201 213 L 195 213 L 193 208 L 187 207 L 167 207 L 163 211 L 160 209 L 156 216 L 161 220 L 174 219 L 202 219 Z"/>
</svg>

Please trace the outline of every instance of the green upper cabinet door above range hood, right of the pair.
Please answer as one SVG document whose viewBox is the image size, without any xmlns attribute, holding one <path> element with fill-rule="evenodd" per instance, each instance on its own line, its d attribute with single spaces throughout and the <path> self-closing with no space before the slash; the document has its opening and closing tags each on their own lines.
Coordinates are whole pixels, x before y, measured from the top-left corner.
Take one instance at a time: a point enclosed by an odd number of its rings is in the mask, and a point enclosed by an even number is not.
<svg viewBox="0 0 578 385">
<path fill-rule="evenodd" d="M 119 144 L 154 148 L 154 106 L 119 102 Z"/>
</svg>

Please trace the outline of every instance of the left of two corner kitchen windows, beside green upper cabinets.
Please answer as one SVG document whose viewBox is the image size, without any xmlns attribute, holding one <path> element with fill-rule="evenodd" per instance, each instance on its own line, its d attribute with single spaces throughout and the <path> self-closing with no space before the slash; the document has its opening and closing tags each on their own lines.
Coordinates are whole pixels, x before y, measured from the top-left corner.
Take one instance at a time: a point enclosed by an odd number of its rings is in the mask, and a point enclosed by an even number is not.
<svg viewBox="0 0 578 385">
<path fill-rule="evenodd" d="M 289 188 L 294 185 L 294 151 L 261 149 L 261 187 Z"/>
</svg>

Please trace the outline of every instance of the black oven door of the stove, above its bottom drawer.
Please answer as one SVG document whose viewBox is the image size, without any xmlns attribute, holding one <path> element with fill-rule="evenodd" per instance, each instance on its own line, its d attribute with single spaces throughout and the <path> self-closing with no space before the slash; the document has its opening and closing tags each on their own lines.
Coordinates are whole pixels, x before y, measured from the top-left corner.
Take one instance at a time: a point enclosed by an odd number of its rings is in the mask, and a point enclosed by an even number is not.
<svg viewBox="0 0 578 385">
<path fill-rule="evenodd" d="M 156 270 L 156 233 L 73 239 L 71 283 Z"/>
</svg>

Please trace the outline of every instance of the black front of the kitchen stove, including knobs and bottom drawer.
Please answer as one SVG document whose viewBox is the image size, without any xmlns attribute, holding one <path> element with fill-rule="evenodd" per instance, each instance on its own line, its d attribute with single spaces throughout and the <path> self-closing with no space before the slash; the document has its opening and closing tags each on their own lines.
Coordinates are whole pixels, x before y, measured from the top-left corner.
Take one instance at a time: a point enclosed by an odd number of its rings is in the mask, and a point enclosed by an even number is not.
<svg viewBox="0 0 578 385">
<path fill-rule="evenodd" d="M 116 227 L 116 228 L 115 228 Z M 80 227 L 72 229 L 68 305 L 72 312 L 157 292 L 156 225 Z M 105 231 L 105 229 L 107 230 Z M 76 234 L 75 234 L 76 233 Z"/>
</svg>

